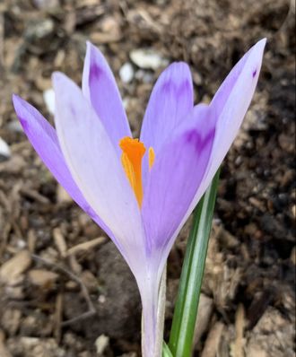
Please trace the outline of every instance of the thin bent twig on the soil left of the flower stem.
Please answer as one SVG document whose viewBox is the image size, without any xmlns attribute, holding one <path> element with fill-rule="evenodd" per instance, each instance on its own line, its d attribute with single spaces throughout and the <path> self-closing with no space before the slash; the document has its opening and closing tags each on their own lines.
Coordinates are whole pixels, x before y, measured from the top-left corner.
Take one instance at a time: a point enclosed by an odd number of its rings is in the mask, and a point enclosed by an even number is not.
<svg viewBox="0 0 296 357">
<path fill-rule="evenodd" d="M 84 312 L 83 314 L 75 317 L 75 318 L 70 318 L 69 320 L 66 320 L 64 322 L 61 323 L 62 327 L 71 325 L 77 321 L 80 321 L 84 318 L 90 318 L 91 316 L 93 316 L 96 313 L 96 309 L 93 306 L 93 303 L 91 301 L 91 297 L 89 292 L 87 291 L 86 286 L 84 285 L 83 281 L 76 275 L 74 275 L 72 272 L 70 272 L 70 270 L 66 269 L 64 266 L 58 266 L 55 263 L 50 262 L 48 259 L 45 259 L 43 257 L 39 257 L 35 254 L 32 254 L 31 257 L 34 260 L 37 260 L 47 266 L 51 266 L 53 269 L 59 270 L 60 272 L 68 275 L 70 277 L 70 279 L 72 279 L 75 283 L 78 283 L 80 285 L 81 291 L 83 293 L 83 298 L 87 303 L 88 306 L 88 311 Z"/>
</svg>

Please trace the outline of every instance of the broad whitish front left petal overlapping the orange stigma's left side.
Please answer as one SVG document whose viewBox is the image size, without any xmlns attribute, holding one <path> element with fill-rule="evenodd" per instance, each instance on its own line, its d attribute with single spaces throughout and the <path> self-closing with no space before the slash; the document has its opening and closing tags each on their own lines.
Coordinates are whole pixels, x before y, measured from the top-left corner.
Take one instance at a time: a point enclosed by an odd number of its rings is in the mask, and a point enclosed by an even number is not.
<svg viewBox="0 0 296 357">
<path fill-rule="evenodd" d="M 141 213 L 104 126 L 78 86 L 53 74 L 57 137 L 65 162 L 100 219 L 125 248 L 134 274 L 142 271 L 144 229 Z"/>
</svg>

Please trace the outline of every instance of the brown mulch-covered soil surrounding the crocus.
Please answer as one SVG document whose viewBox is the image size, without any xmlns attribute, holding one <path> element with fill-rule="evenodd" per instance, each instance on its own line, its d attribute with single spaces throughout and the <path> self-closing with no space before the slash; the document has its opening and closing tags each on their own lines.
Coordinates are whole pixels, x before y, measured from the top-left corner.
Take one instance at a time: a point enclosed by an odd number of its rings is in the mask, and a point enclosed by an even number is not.
<svg viewBox="0 0 296 357">
<path fill-rule="evenodd" d="M 289 0 L 0 1 L 0 137 L 10 150 L 0 153 L 1 357 L 140 356 L 134 279 L 31 148 L 12 92 L 52 120 L 50 75 L 81 83 L 89 39 L 109 60 L 137 135 L 166 62 L 187 61 L 196 102 L 208 102 L 264 37 L 257 92 L 222 165 L 195 356 L 295 355 L 294 33 Z M 145 48 L 157 65 L 133 59 Z M 166 338 L 189 225 L 169 258 Z"/>
</svg>

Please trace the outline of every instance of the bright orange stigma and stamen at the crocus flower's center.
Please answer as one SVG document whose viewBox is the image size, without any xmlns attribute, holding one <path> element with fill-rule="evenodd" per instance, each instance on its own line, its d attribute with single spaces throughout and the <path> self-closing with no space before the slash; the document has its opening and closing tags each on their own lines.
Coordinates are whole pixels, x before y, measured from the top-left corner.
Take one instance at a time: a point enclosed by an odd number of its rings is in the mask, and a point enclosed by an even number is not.
<svg viewBox="0 0 296 357">
<path fill-rule="evenodd" d="M 139 139 L 124 137 L 119 141 L 119 146 L 122 150 L 121 163 L 126 172 L 126 177 L 135 192 L 135 198 L 139 207 L 143 201 L 143 182 L 142 182 L 142 159 L 146 148 Z M 148 150 L 149 170 L 151 170 L 155 159 L 155 153 L 152 147 Z"/>
</svg>

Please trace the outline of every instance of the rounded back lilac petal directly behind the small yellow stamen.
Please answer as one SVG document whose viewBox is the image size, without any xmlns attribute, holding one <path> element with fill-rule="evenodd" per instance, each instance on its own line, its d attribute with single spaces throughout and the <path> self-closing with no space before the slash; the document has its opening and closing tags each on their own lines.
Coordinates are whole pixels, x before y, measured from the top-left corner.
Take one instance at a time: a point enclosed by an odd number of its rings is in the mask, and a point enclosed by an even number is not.
<svg viewBox="0 0 296 357">
<path fill-rule="evenodd" d="M 154 85 L 144 115 L 140 140 L 158 154 L 172 131 L 193 109 L 193 84 L 187 64 L 166 68 Z"/>
</svg>

